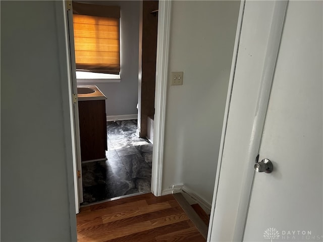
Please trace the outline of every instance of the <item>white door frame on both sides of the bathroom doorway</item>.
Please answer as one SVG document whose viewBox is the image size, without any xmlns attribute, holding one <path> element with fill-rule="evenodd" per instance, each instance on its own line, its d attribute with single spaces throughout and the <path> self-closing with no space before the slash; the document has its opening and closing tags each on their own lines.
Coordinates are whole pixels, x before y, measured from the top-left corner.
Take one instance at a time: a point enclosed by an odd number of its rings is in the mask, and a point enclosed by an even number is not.
<svg viewBox="0 0 323 242">
<path fill-rule="evenodd" d="M 66 23 L 66 45 L 68 54 L 69 73 L 69 92 L 72 100 L 73 93 L 77 93 L 75 70 L 75 55 L 70 52 L 69 38 L 74 38 L 70 31 L 72 11 L 66 6 L 70 1 L 63 1 L 64 21 Z M 168 80 L 168 55 L 170 42 L 171 26 L 171 1 L 159 1 L 158 3 L 158 26 L 157 26 L 157 56 L 156 56 L 156 88 L 155 88 L 155 115 L 154 115 L 154 149 L 152 153 L 152 172 L 151 172 L 151 191 L 155 196 L 161 196 L 161 185 L 163 178 L 163 159 L 164 159 L 164 135 L 165 135 L 165 116 L 167 99 L 167 80 Z M 72 6 L 70 6 L 71 8 Z M 73 61 L 74 59 L 74 61 Z M 74 104 L 74 109 L 70 110 L 71 115 L 78 117 L 78 105 Z M 74 125 L 74 123 L 76 125 Z M 71 129 L 73 136 L 73 168 L 74 168 L 74 189 L 75 189 L 75 207 L 76 213 L 79 211 L 80 202 L 82 202 L 82 179 L 77 178 L 77 170 L 81 171 L 81 159 L 79 146 L 79 122 L 78 118 L 73 122 L 71 119 Z M 75 158 L 75 159 L 74 159 Z M 81 182 L 81 183 L 80 183 Z"/>
</svg>

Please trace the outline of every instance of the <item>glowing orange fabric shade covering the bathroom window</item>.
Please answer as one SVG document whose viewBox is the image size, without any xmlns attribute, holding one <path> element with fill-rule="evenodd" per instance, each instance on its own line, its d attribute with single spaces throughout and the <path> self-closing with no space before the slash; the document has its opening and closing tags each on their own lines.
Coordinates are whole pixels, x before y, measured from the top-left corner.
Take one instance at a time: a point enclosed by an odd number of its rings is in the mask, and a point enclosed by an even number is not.
<svg viewBox="0 0 323 242">
<path fill-rule="evenodd" d="M 120 16 L 120 9 L 118 14 Z M 76 69 L 119 74 L 120 19 L 73 14 L 73 25 Z"/>
</svg>

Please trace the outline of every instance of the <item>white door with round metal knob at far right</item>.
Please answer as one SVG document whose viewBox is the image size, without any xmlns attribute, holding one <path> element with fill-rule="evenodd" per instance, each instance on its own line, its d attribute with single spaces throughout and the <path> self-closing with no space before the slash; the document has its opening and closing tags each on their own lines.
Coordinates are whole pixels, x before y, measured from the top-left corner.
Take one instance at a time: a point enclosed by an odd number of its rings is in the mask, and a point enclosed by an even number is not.
<svg viewBox="0 0 323 242">
<path fill-rule="evenodd" d="M 244 241 L 323 240 L 322 9 L 288 3 Z"/>
</svg>

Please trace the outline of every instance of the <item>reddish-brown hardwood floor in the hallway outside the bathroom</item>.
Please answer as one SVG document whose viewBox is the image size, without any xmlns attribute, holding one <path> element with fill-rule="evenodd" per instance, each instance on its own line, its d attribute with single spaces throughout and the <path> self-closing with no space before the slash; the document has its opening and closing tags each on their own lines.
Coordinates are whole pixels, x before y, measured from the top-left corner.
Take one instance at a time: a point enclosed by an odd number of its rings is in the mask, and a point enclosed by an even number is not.
<svg viewBox="0 0 323 242">
<path fill-rule="evenodd" d="M 79 242 L 205 242 L 173 195 L 143 194 L 81 208 Z"/>
</svg>

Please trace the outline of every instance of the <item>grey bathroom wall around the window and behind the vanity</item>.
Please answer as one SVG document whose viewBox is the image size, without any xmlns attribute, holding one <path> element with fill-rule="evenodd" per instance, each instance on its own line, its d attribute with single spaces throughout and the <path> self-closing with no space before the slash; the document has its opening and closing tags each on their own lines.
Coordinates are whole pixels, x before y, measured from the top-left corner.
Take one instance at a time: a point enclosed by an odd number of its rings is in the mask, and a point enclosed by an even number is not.
<svg viewBox="0 0 323 242">
<path fill-rule="evenodd" d="M 89 1 L 79 1 L 89 2 Z M 106 115 L 137 114 L 139 65 L 139 1 L 90 1 L 120 6 L 121 82 L 94 83 L 107 97 Z M 93 82 L 92 82 L 93 84 Z M 88 83 L 78 83 L 88 85 Z"/>
</svg>

